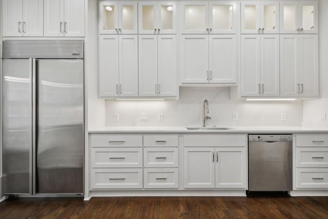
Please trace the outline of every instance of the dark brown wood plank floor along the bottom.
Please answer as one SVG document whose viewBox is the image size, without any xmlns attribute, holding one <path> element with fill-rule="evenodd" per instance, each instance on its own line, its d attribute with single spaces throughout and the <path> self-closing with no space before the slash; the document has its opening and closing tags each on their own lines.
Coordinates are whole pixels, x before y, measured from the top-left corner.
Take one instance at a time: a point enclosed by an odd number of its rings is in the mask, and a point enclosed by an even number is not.
<svg viewBox="0 0 328 219">
<path fill-rule="evenodd" d="M 328 197 L 14 198 L 0 218 L 328 218 Z"/>
</svg>

